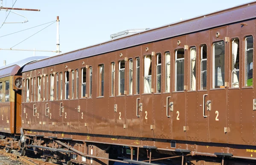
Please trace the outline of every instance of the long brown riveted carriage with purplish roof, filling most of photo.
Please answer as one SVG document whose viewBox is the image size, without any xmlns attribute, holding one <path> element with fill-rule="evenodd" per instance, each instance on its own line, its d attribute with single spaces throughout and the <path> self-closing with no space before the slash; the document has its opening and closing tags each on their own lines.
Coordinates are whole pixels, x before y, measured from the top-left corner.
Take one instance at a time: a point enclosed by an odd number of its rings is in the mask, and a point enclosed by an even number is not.
<svg viewBox="0 0 256 165">
<path fill-rule="evenodd" d="M 255 9 L 252 2 L 26 65 L 23 93 L 37 91 L 23 96 L 26 146 L 82 164 L 117 161 L 116 146 L 135 150 L 125 160 L 135 164 L 152 163 L 151 154 L 194 164 L 255 160 Z"/>
</svg>

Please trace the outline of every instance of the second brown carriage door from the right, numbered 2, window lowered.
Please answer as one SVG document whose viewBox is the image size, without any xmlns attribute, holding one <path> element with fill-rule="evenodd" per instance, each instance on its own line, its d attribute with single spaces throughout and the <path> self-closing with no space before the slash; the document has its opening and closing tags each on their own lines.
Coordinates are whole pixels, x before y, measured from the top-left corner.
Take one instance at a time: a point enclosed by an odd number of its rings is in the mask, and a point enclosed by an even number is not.
<svg viewBox="0 0 256 165">
<path fill-rule="evenodd" d="M 173 139 L 186 140 L 186 90 L 187 70 L 188 70 L 188 46 L 186 36 L 174 38 L 172 40 L 173 51 L 173 71 L 174 90 L 172 91 L 172 135 Z"/>
</svg>

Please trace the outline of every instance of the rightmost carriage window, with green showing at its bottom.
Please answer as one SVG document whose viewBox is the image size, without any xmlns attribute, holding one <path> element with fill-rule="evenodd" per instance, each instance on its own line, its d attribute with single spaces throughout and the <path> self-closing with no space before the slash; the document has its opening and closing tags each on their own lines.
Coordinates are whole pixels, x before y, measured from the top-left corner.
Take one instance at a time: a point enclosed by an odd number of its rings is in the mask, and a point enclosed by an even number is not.
<svg viewBox="0 0 256 165">
<path fill-rule="evenodd" d="M 253 37 L 245 38 L 245 86 L 253 86 Z"/>
</svg>

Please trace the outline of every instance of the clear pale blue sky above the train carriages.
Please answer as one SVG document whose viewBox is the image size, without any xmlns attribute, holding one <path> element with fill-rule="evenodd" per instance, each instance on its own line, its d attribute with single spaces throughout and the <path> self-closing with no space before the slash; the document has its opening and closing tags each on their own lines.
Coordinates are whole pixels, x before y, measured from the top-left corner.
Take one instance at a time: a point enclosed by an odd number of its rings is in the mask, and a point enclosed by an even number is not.
<svg viewBox="0 0 256 165">
<path fill-rule="evenodd" d="M 12 7 L 15 0 L 3 0 L 4 7 Z M 154 28 L 180 18 L 188 19 L 209 12 L 230 8 L 251 0 L 17 0 L 15 8 L 41 9 L 40 12 L 13 11 L 29 22 L 3 24 L 0 28 L 0 48 L 9 49 L 47 25 L 6 37 L 13 32 L 48 23 L 60 17 L 60 47 L 62 53 L 108 41 L 110 35 L 126 29 Z M 9 12 L 0 11 L 0 25 Z M 25 19 L 10 13 L 6 22 Z M 56 50 L 56 23 L 13 47 L 13 49 Z M 56 53 L 36 52 L 52 56 Z M 0 50 L 0 67 L 33 56 L 33 52 Z"/>
</svg>

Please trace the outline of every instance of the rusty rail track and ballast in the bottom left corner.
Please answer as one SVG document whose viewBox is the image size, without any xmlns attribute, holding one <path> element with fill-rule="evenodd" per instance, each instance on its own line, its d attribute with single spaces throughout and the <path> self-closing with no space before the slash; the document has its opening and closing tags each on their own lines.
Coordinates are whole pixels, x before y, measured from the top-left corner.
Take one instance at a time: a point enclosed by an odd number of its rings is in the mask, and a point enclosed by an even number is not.
<svg viewBox="0 0 256 165">
<path fill-rule="evenodd" d="M 0 150 L 0 165 L 57 165 L 51 162 L 44 162 L 40 159 L 33 159 L 20 156 L 18 153 L 6 153 Z"/>
</svg>

